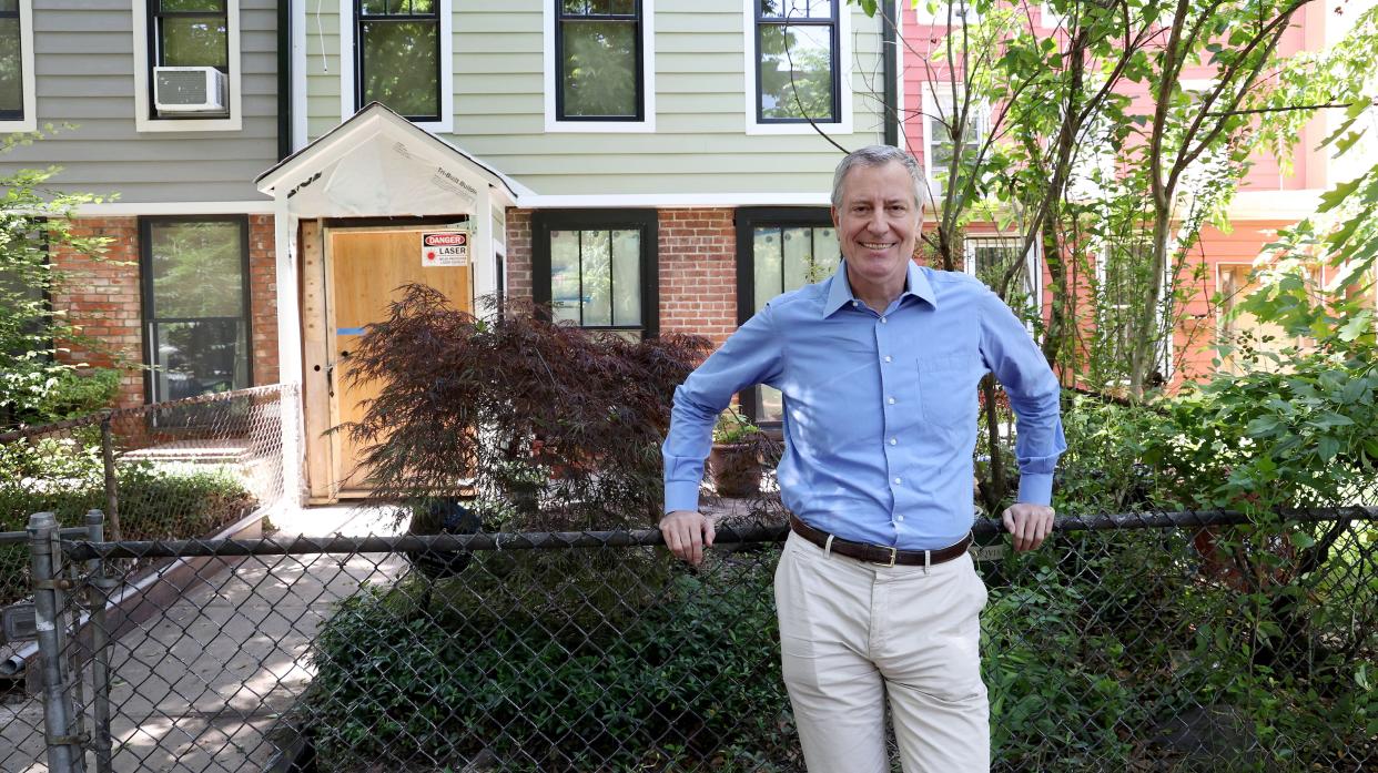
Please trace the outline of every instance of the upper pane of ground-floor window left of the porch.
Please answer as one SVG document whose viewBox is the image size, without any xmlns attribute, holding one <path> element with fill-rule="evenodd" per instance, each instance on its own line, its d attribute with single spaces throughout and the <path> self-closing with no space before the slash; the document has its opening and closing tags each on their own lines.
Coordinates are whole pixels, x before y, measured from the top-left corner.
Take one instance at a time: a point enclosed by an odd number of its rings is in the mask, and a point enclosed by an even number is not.
<svg viewBox="0 0 1378 773">
<path fill-rule="evenodd" d="M 153 307 L 167 317 L 238 317 L 244 311 L 240 223 L 154 223 Z"/>
</svg>

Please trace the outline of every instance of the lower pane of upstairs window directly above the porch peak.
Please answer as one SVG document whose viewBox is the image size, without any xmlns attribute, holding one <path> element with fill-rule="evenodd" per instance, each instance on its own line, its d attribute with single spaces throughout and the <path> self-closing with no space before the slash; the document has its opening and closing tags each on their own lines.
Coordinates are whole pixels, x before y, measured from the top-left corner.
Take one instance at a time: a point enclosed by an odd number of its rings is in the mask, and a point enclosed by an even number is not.
<svg viewBox="0 0 1378 773">
<path fill-rule="evenodd" d="M 438 22 L 365 22 L 364 105 L 382 102 L 404 116 L 438 116 Z"/>
</svg>

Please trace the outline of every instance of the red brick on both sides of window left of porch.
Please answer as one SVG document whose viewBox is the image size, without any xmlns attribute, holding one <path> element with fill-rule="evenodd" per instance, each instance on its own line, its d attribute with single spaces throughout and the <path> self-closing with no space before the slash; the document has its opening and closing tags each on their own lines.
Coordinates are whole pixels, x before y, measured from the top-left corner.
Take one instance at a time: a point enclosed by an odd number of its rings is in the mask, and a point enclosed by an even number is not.
<svg viewBox="0 0 1378 773">
<path fill-rule="evenodd" d="M 139 219 L 76 218 L 77 237 L 107 238 L 101 260 L 54 245 L 54 266 L 66 274 L 63 292 L 52 306 L 65 311 L 101 347 L 72 346 L 62 357 L 109 368 L 123 365 L 120 408 L 142 405 L 145 394 L 142 288 L 139 280 Z M 273 218 L 249 216 L 249 327 L 252 332 L 254 384 L 277 383 L 277 271 Z"/>
</svg>

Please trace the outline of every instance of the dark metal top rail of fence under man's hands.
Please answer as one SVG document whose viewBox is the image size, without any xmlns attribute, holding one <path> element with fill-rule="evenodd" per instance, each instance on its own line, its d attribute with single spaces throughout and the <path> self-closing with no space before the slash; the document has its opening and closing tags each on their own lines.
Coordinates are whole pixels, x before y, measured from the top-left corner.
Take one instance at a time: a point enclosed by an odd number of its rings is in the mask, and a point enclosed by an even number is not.
<svg viewBox="0 0 1378 773">
<path fill-rule="evenodd" d="M 1273 514 L 1277 522 L 1315 524 L 1327 521 L 1378 521 L 1378 506 L 1310 507 Z M 1104 515 L 1067 515 L 1054 521 L 1058 532 L 1105 532 L 1118 529 L 1173 529 L 1192 526 L 1228 526 L 1254 524 L 1257 514 L 1232 510 L 1185 510 L 1178 513 L 1118 513 Z M 722 526 L 714 544 L 783 542 L 788 526 Z M 978 518 L 971 525 L 977 537 L 1005 530 L 999 519 Z M 576 547 L 648 547 L 663 544 L 657 529 L 623 529 L 602 532 L 481 532 L 474 535 L 402 535 L 402 536 L 294 536 L 254 540 L 153 540 L 153 542 L 63 542 L 62 550 L 73 561 L 92 558 L 186 558 L 212 555 L 310 555 L 365 553 L 457 553 L 500 550 L 565 550 Z"/>
</svg>

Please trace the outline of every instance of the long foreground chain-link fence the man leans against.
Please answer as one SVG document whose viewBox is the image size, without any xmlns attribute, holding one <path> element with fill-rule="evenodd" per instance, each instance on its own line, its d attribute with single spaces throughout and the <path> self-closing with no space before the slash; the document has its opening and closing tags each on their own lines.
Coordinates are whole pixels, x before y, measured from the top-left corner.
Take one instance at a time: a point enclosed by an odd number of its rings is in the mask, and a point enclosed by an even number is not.
<svg viewBox="0 0 1378 773">
<path fill-rule="evenodd" d="M 983 562 L 995 769 L 1374 769 L 1375 519 L 1060 518 L 1039 551 Z M 779 525 L 719 530 L 697 570 L 653 530 L 34 525 L 37 635 L 59 655 L 29 666 L 45 690 L 0 707 L 6 772 L 802 770 Z M 131 594 L 120 566 L 150 558 L 207 564 L 176 595 Z"/>
</svg>

